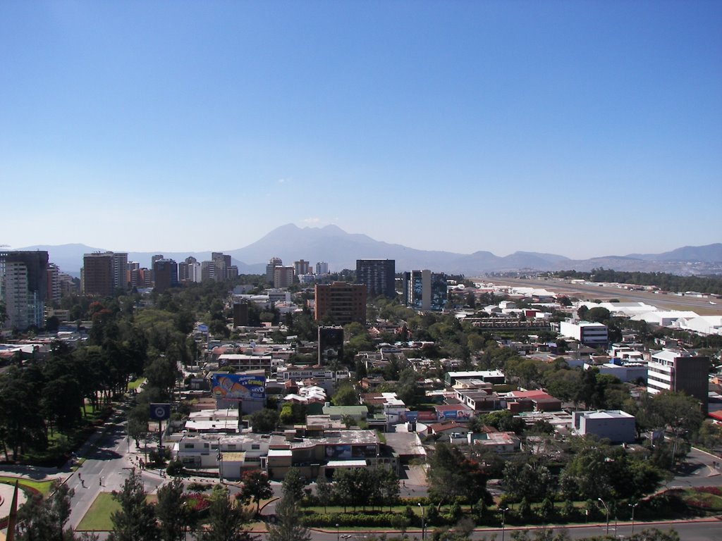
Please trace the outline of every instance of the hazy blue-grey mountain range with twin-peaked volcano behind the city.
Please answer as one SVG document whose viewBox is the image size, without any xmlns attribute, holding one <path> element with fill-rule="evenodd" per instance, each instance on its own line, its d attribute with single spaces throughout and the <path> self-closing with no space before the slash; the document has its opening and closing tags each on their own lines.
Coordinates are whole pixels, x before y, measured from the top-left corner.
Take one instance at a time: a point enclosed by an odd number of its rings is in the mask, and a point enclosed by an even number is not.
<svg viewBox="0 0 722 541">
<path fill-rule="evenodd" d="M 47 250 L 50 260 L 61 271 L 77 274 L 82 266 L 83 254 L 103 252 L 102 248 L 82 244 L 38 245 L 18 250 Z M 120 250 L 118 250 L 120 251 Z M 148 267 L 152 255 L 181 261 L 192 255 L 199 261 L 208 260 L 211 252 L 128 252 L 128 259 Z M 416 250 L 404 245 L 389 244 L 365 234 L 344 232 L 338 226 L 298 227 L 280 226 L 256 242 L 235 250 L 225 250 L 240 273 L 265 273 L 266 262 L 272 257 L 282 258 L 285 265 L 305 259 L 313 265 L 318 261 L 329 263 L 331 271 L 356 268 L 362 258 L 388 258 L 396 260 L 396 271 L 430 269 L 431 271 L 474 276 L 492 272 L 513 271 L 591 271 L 609 268 L 616 271 L 667 272 L 674 274 L 722 273 L 722 243 L 706 246 L 685 246 L 661 254 L 610 255 L 586 260 L 572 260 L 563 255 L 539 252 L 514 252 L 505 257 L 492 252 L 458 254 L 454 252 Z"/>
</svg>

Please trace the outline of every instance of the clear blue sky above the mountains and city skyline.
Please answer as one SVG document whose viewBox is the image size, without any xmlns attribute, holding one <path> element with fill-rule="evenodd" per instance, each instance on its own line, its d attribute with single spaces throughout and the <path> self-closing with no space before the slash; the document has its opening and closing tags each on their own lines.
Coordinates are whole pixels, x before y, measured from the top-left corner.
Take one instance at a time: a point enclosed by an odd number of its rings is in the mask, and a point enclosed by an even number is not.
<svg viewBox="0 0 722 541">
<path fill-rule="evenodd" d="M 5 0 L 0 244 L 722 242 L 721 29 L 719 1 Z"/>
</svg>

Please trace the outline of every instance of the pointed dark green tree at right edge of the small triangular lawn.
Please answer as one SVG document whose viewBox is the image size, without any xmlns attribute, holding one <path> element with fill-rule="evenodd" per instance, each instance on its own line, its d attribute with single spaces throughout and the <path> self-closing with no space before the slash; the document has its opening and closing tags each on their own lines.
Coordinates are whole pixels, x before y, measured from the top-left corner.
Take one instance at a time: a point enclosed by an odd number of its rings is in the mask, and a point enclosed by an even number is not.
<svg viewBox="0 0 722 541">
<path fill-rule="evenodd" d="M 143 480 L 135 470 L 123 482 L 121 491 L 113 491 L 113 499 L 121 509 L 110 515 L 113 531 L 110 541 L 158 541 L 160 529 L 155 521 L 155 510 L 146 501 Z"/>
</svg>

